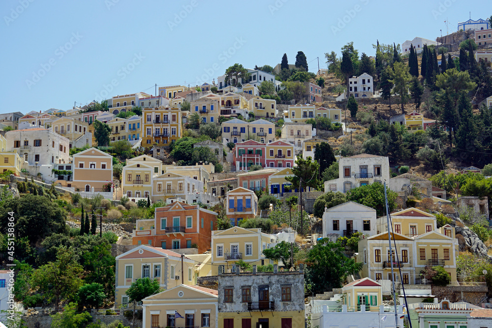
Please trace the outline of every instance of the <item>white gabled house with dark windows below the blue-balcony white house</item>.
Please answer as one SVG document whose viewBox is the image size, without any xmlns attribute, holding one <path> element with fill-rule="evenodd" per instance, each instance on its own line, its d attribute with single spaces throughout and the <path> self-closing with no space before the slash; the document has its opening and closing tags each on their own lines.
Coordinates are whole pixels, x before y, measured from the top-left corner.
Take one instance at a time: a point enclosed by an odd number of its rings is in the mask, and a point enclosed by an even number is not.
<svg viewBox="0 0 492 328">
<path fill-rule="evenodd" d="M 354 202 L 346 202 L 323 213 L 323 237 L 350 237 L 356 232 L 376 234 L 376 210 Z M 334 236 L 336 235 L 336 236 Z"/>
</svg>

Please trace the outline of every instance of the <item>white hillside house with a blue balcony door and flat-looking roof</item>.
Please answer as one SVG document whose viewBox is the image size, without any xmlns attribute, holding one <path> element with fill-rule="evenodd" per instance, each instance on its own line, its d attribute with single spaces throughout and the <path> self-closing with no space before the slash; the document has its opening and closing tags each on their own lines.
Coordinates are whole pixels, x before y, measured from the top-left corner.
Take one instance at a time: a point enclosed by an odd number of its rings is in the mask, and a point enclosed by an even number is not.
<svg viewBox="0 0 492 328">
<path fill-rule="evenodd" d="M 325 181 L 325 192 L 347 192 L 372 182 L 389 180 L 390 163 L 386 156 L 359 154 L 342 157 L 338 163 L 338 179 Z"/>
</svg>

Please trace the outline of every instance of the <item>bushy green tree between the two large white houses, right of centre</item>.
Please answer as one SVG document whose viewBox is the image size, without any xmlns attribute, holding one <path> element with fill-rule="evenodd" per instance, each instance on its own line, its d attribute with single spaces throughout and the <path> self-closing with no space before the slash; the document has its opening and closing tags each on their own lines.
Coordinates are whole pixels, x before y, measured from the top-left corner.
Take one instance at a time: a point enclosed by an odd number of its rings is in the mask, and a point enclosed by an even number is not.
<svg viewBox="0 0 492 328">
<path fill-rule="evenodd" d="M 388 196 L 388 206 L 390 213 L 397 208 L 396 199 L 398 194 L 386 187 Z M 376 210 L 377 216 L 386 214 L 384 201 L 384 185 L 380 182 L 373 182 L 360 187 L 352 188 L 347 192 L 347 201 L 356 202 Z"/>
</svg>

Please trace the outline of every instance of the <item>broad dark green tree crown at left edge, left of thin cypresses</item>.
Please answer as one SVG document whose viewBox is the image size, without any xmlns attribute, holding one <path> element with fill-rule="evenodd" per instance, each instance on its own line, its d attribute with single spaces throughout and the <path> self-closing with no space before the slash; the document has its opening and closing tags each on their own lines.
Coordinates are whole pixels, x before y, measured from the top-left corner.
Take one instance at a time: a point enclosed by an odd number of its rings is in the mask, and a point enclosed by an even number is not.
<svg viewBox="0 0 492 328">
<path fill-rule="evenodd" d="M 14 212 L 17 220 L 14 225 L 15 238 L 27 237 L 31 245 L 52 234 L 67 233 L 66 212 L 53 206 L 45 196 L 22 195 L 20 198 L 7 198 L 0 206 L 0 233 L 6 235 L 9 212 Z"/>
</svg>

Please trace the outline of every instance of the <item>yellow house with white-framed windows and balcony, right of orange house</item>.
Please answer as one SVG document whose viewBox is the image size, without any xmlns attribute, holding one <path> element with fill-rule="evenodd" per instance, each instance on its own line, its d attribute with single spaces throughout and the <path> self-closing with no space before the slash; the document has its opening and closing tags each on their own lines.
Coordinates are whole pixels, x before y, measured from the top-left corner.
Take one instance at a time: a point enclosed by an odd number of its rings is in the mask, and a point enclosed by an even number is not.
<svg viewBox="0 0 492 328">
<path fill-rule="evenodd" d="M 260 228 L 232 227 L 212 231 L 212 275 L 236 272 L 236 262 L 249 265 L 277 264 L 265 258 L 263 250 L 274 247 L 277 238 L 261 232 Z"/>
</svg>

